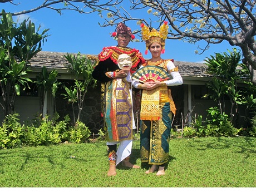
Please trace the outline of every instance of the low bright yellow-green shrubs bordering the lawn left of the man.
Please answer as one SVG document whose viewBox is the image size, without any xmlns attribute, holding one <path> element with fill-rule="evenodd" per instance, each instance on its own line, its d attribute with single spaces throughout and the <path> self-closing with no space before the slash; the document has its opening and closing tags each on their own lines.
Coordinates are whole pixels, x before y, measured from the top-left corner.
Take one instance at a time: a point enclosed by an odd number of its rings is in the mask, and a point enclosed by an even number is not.
<svg viewBox="0 0 256 192">
<path fill-rule="evenodd" d="M 70 117 L 65 116 L 63 121 L 58 120 L 58 114 L 48 119 L 48 116 L 26 121 L 21 125 L 18 114 L 6 116 L 0 127 L 0 149 L 8 149 L 18 146 L 38 146 L 59 144 L 62 141 L 86 142 L 91 131 L 82 122 L 77 122 L 75 127 L 69 127 Z"/>
</svg>

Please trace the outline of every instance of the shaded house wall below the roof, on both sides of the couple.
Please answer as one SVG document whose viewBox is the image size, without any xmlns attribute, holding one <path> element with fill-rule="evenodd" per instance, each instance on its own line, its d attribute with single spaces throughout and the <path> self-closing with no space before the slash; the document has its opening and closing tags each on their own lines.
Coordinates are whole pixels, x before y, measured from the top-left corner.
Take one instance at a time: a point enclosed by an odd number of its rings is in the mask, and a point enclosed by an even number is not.
<svg viewBox="0 0 256 192">
<path fill-rule="evenodd" d="M 183 125 L 189 126 L 189 119 L 191 116 L 202 115 L 203 120 L 206 119 L 207 112 L 210 107 L 218 106 L 213 100 L 199 99 L 200 94 L 203 93 L 204 88 L 198 85 L 180 85 L 171 87 L 171 95 L 176 106 L 176 115 L 173 116 L 173 127 L 182 127 Z M 59 90 L 61 91 L 61 90 Z M 56 99 L 56 111 L 60 115 L 60 120 L 63 120 L 65 115 L 69 115 L 71 121 L 73 122 L 73 110 L 72 105 L 68 104 L 67 99 L 63 99 L 60 92 Z M 99 130 L 104 125 L 103 117 L 101 116 L 101 95 L 100 86 L 88 90 L 85 96 L 85 101 L 83 104 L 83 109 L 81 112 L 80 121 L 85 123 L 86 126 L 94 133 L 99 133 Z M 191 101 L 189 101 L 191 99 Z M 0 98 L 1 103 L 2 98 Z M 190 103 L 190 104 L 189 104 Z M 189 111 L 189 105 L 191 105 L 191 110 Z M 226 101 L 225 112 L 229 114 L 230 104 Z M 19 119 L 21 123 L 26 120 L 34 119 L 36 114 L 40 111 L 40 98 L 38 96 L 17 96 L 15 110 L 18 112 Z M 78 114 L 77 103 L 74 104 L 75 115 Z M 241 110 L 243 111 L 243 110 Z M 51 93 L 48 93 L 47 97 L 47 114 L 49 119 L 51 119 L 54 112 L 54 100 Z M 242 118 L 244 112 L 241 112 L 241 118 L 239 119 L 239 124 L 242 124 L 244 119 Z M 135 114 L 136 117 L 136 114 Z M 77 116 L 76 116 L 77 118 Z M 3 111 L 0 113 L 1 122 L 4 119 Z M 139 119 L 139 118 L 138 118 Z M 140 120 L 139 120 L 140 121 Z"/>
</svg>

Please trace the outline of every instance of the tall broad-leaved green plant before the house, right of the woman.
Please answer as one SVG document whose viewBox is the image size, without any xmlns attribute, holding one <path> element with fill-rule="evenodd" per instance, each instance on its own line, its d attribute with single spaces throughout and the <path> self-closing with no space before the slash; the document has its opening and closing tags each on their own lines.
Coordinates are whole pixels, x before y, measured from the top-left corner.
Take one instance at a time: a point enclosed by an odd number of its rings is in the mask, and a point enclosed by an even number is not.
<svg viewBox="0 0 256 192">
<path fill-rule="evenodd" d="M 205 64 L 208 66 L 207 73 L 213 76 L 213 80 L 206 84 L 211 93 L 203 97 L 210 96 L 211 99 L 217 101 L 220 114 L 225 112 L 225 97 L 228 97 L 231 104 L 229 115 L 234 125 L 235 120 L 239 117 L 238 105 L 245 105 L 248 108 L 246 98 L 253 94 L 247 88 L 251 83 L 248 82 L 248 69 L 243 63 L 239 62 L 240 52 L 236 48 L 233 48 L 232 52 L 228 50 L 228 53 L 215 53 L 215 56 L 205 60 Z M 238 83 L 244 85 L 244 91 L 241 88 L 238 89 Z"/>
</svg>

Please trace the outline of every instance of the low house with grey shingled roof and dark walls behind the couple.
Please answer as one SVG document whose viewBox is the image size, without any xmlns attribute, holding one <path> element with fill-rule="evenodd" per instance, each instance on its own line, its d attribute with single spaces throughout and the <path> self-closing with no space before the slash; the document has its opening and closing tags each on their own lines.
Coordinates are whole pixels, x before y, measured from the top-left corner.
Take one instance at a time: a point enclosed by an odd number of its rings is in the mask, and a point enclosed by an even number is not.
<svg viewBox="0 0 256 192">
<path fill-rule="evenodd" d="M 73 54 L 76 55 L 77 53 Z M 53 69 L 58 71 L 58 80 L 73 83 L 74 77 L 66 67 L 68 62 L 65 55 L 67 53 L 45 51 L 37 53 L 30 61 L 33 72 L 29 73 L 29 78 L 35 80 L 38 73 L 42 71 L 42 67 L 46 66 L 48 72 L 51 72 Z M 203 63 L 174 61 L 174 64 L 179 67 L 180 75 L 183 77 L 183 85 L 173 86 L 171 88 L 171 94 L 177 109 L 173 126 L 189 125 L 192 121 L 191 116 L 203 115 L 203 117 L 206 117 L 206 110 L 209 107 L 216 106 L 213 100 L 201 99 L 208 91 L 205 83 L 211 80 L 211 76 L 206 74 L 207 66 Z M 21 96 L 16 97 L 15 111 L 20 115 L 19 119 L 24 122 L 35 118 L 35 115 L 40 111 L 39 104 L 40 97 L 37 95 L 36 88 L 31 89 L 24 92 Z M 45 99 L 45 104 L 43 114 L 48 114 L 51 117 L 53 115 L 54 105 L 53 97 L 50 93 L 48 93 Z M 60 114 L 60 118 L 67 114 L 70 117 L 73 116 L 71 104 L 67 104 L 67 100 L 61 99 L 61 96 L 56 99 L 56 111 Z M 4 115 L 2 112 L 0 120 L 3 119 Z M 91 88 L 86 93 L 81 121 L 95 134 L 101 129 L 103 119 L 101 117 L 100 86 Z"/>
</svg>

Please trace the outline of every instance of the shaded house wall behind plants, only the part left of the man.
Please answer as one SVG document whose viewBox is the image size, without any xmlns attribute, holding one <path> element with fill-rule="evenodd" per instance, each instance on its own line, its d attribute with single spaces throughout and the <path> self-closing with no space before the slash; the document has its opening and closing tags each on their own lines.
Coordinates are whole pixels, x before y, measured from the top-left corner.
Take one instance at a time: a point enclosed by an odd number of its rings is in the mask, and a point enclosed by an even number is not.
<svg viewBox="0 0 256 192">
<path fill-rule="evenodd" d="M 68 104 L 67 99 L 63 99 L 61 93 L 65 93 L 64 90 L 59 90 L 59 94 L 56 98 L 56 111 L 60 115 L 60 120 L 63 117 L 69 115 L 73 122 L 73 110 L 72 105 Z M 47 93 L 47 99 L 45 103 L 47 105 L 45 111 L 48 118 L 51 120 L 54 114 L 54 99 L 50 92 Z M 3 105 L 3 98 L 0 97 L 0 102 Z M 78 114 L 77 103 L 74 104 L 75 115 Z M 16 96 L 15 111 L 19 114 L 18 119 L 21 124 L 24 124 L 26 120 L 35 119 L 40 112 L 40 97 L 39 96 Z M 4 120 L 4 112 L 0 109 L 0 122 Z M 76 116 L 77 118 L 77 116 Z M 80 121 L 85 123 L 89 129 L 97 134 L 103 126 L 103 118 L 101 117 L 101 104 L 100 104 L 100 86 L 91 88 L 88 90 L 83 103 L 83 109 L 81 112 Z M 1 126 L 1 125 L 0 125 Z"/>
</svg>

